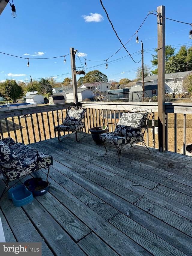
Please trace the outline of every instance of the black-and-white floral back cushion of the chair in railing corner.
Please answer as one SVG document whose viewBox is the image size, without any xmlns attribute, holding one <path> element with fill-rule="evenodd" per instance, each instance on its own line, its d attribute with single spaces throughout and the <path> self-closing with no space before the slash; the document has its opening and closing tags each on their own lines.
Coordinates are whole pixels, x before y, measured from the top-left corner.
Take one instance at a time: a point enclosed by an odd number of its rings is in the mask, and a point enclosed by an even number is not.
<svg viewBox="0 0 192 256">
<path fill-rule="evenodd" d="M 63 125 L 82 125 L 82 119 L 85 117 L 86 109 L 69 109 L 63 121 Z"/>
</svg>

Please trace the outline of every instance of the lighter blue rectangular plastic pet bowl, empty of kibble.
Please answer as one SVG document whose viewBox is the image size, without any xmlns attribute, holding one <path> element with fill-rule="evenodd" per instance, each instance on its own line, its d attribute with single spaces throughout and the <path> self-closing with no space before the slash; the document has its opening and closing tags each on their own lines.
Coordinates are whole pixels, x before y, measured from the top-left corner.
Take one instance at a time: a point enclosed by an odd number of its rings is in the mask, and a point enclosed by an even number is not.
<svg viewBox="0 0 192 256">
<path fill-rule="evenodd" d="M 8 198 L 13 200 L 13 204 L 16 207 L 23 206 L 34 199 L 32 192 L 23 184 L 10 188 L 8 190 Z"/>
</svg>

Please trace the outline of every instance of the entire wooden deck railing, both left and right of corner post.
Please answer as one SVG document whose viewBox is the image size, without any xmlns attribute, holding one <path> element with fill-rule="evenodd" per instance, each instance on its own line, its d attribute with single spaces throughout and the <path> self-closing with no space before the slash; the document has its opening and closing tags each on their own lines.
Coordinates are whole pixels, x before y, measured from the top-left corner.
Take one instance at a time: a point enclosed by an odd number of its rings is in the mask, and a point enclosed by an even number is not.
<svg viewBox="0 0 192 256">
<path fill-rule="evenodd" d="M 148 146 L 158 148 L 158 103 L 148 102 L 81 102 L 86 107 L 85 132 L 91 127 L 116 123 L 121 113 L 132 108 L 151 108 L 152 116 L 146 132 Z M 0 112 L 1 138 L 12 137 L 16 142 L 30 144 L 57 137 L 54 126 L 61 124 L 67 108 L 73 103 L 31 107 Z M 186 154 L 186 144 L 192 143 L 192 103 L 165 103 L 166 150 Z M 114 127 L 111 126 L 111 131 Z"/>
</svg>

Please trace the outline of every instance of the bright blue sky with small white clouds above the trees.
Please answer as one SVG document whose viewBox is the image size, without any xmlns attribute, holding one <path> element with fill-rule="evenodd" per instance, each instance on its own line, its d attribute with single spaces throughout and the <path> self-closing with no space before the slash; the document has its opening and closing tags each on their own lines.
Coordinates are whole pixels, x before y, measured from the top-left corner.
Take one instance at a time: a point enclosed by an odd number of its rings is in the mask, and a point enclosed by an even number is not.
<svg viewBox="0 0 192 256">
<path fill-rule="evenodd" d="M 12 3 L 12 0 L 10 0 Z M 102 0 L 114 29 L 125 44 L 139 29 L 149 11 L 165 6 L 167 18 L 192 23 L 191 1 L 128 1 Z M 86 59 L 85 72 L 99 70 L 108 80 L 119 82 L 122 78 L 136 78 L 137 68 L 142 64 L 141 40 L 144 48 L 144 64 L 151 66 L 152 54 L 157 47 L 157 17 L 150 14 L 136 35 L 125 45 L 135 63 L 122 48 L 116 37 L 100 0 L 50 1 L 13 0 L 17 17 L 11 17 L 7 4 L 0 15 L 0 81 L 16 81 L 55 77 L 62 82 L 71 77 L 70 48 L 78 50 Z M 155 13 L 155 12 L 154 12 Z M 190 25 L 166 19 L 166 45 L 176 47 L 192 46 L 189 39 Z M 119 51 L 118 51 L 119 50 Z M 118 53 L 116 53 L 118 51 Z M 29 58 L 17 58 L 6 54 Z M 114 56 L 112 56 L 116 53 Z M 69 55 L 67 55 L 69 54 Z M 66 56 L 67 55 L 67 56 Z M 84 66 L 85 59 L 76 57 L 76 67 Z M 64 57 L 53 59 L 57 56 Z M 110 56 L 112 56 L 110 58 Z M 33 59 L 40 58 L 40 59 Z M 106 66 L 106 59 L 108 69 Z M 153 68 L 152 68 L 153 69 Z M 77 75 L 77 80 L 82 75 Z"/>
</svg>

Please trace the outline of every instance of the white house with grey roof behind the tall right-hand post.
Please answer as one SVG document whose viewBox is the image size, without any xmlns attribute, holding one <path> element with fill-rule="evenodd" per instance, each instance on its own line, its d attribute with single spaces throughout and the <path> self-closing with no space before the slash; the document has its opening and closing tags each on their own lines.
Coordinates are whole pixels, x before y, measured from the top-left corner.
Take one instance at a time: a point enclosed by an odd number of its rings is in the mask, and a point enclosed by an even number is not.
<svg viewBox="0 0 192 256">
<path fill-rule="evenodd" d="M 182 93 L 183 91 L 183 80 L 192 71 L 185 71 L 185 72 L 177 72 L 177 73 L 170 73 L 165 74 L 165 93 Z M 142 86 L 142 80 L 136 82 L 136 84 Z M 144 78 L 145 90 L 151 91 L 149 93 L 149 97 L 153 97 L 158 95 L 158 75 L 148 76 Z"/>
</svg>

